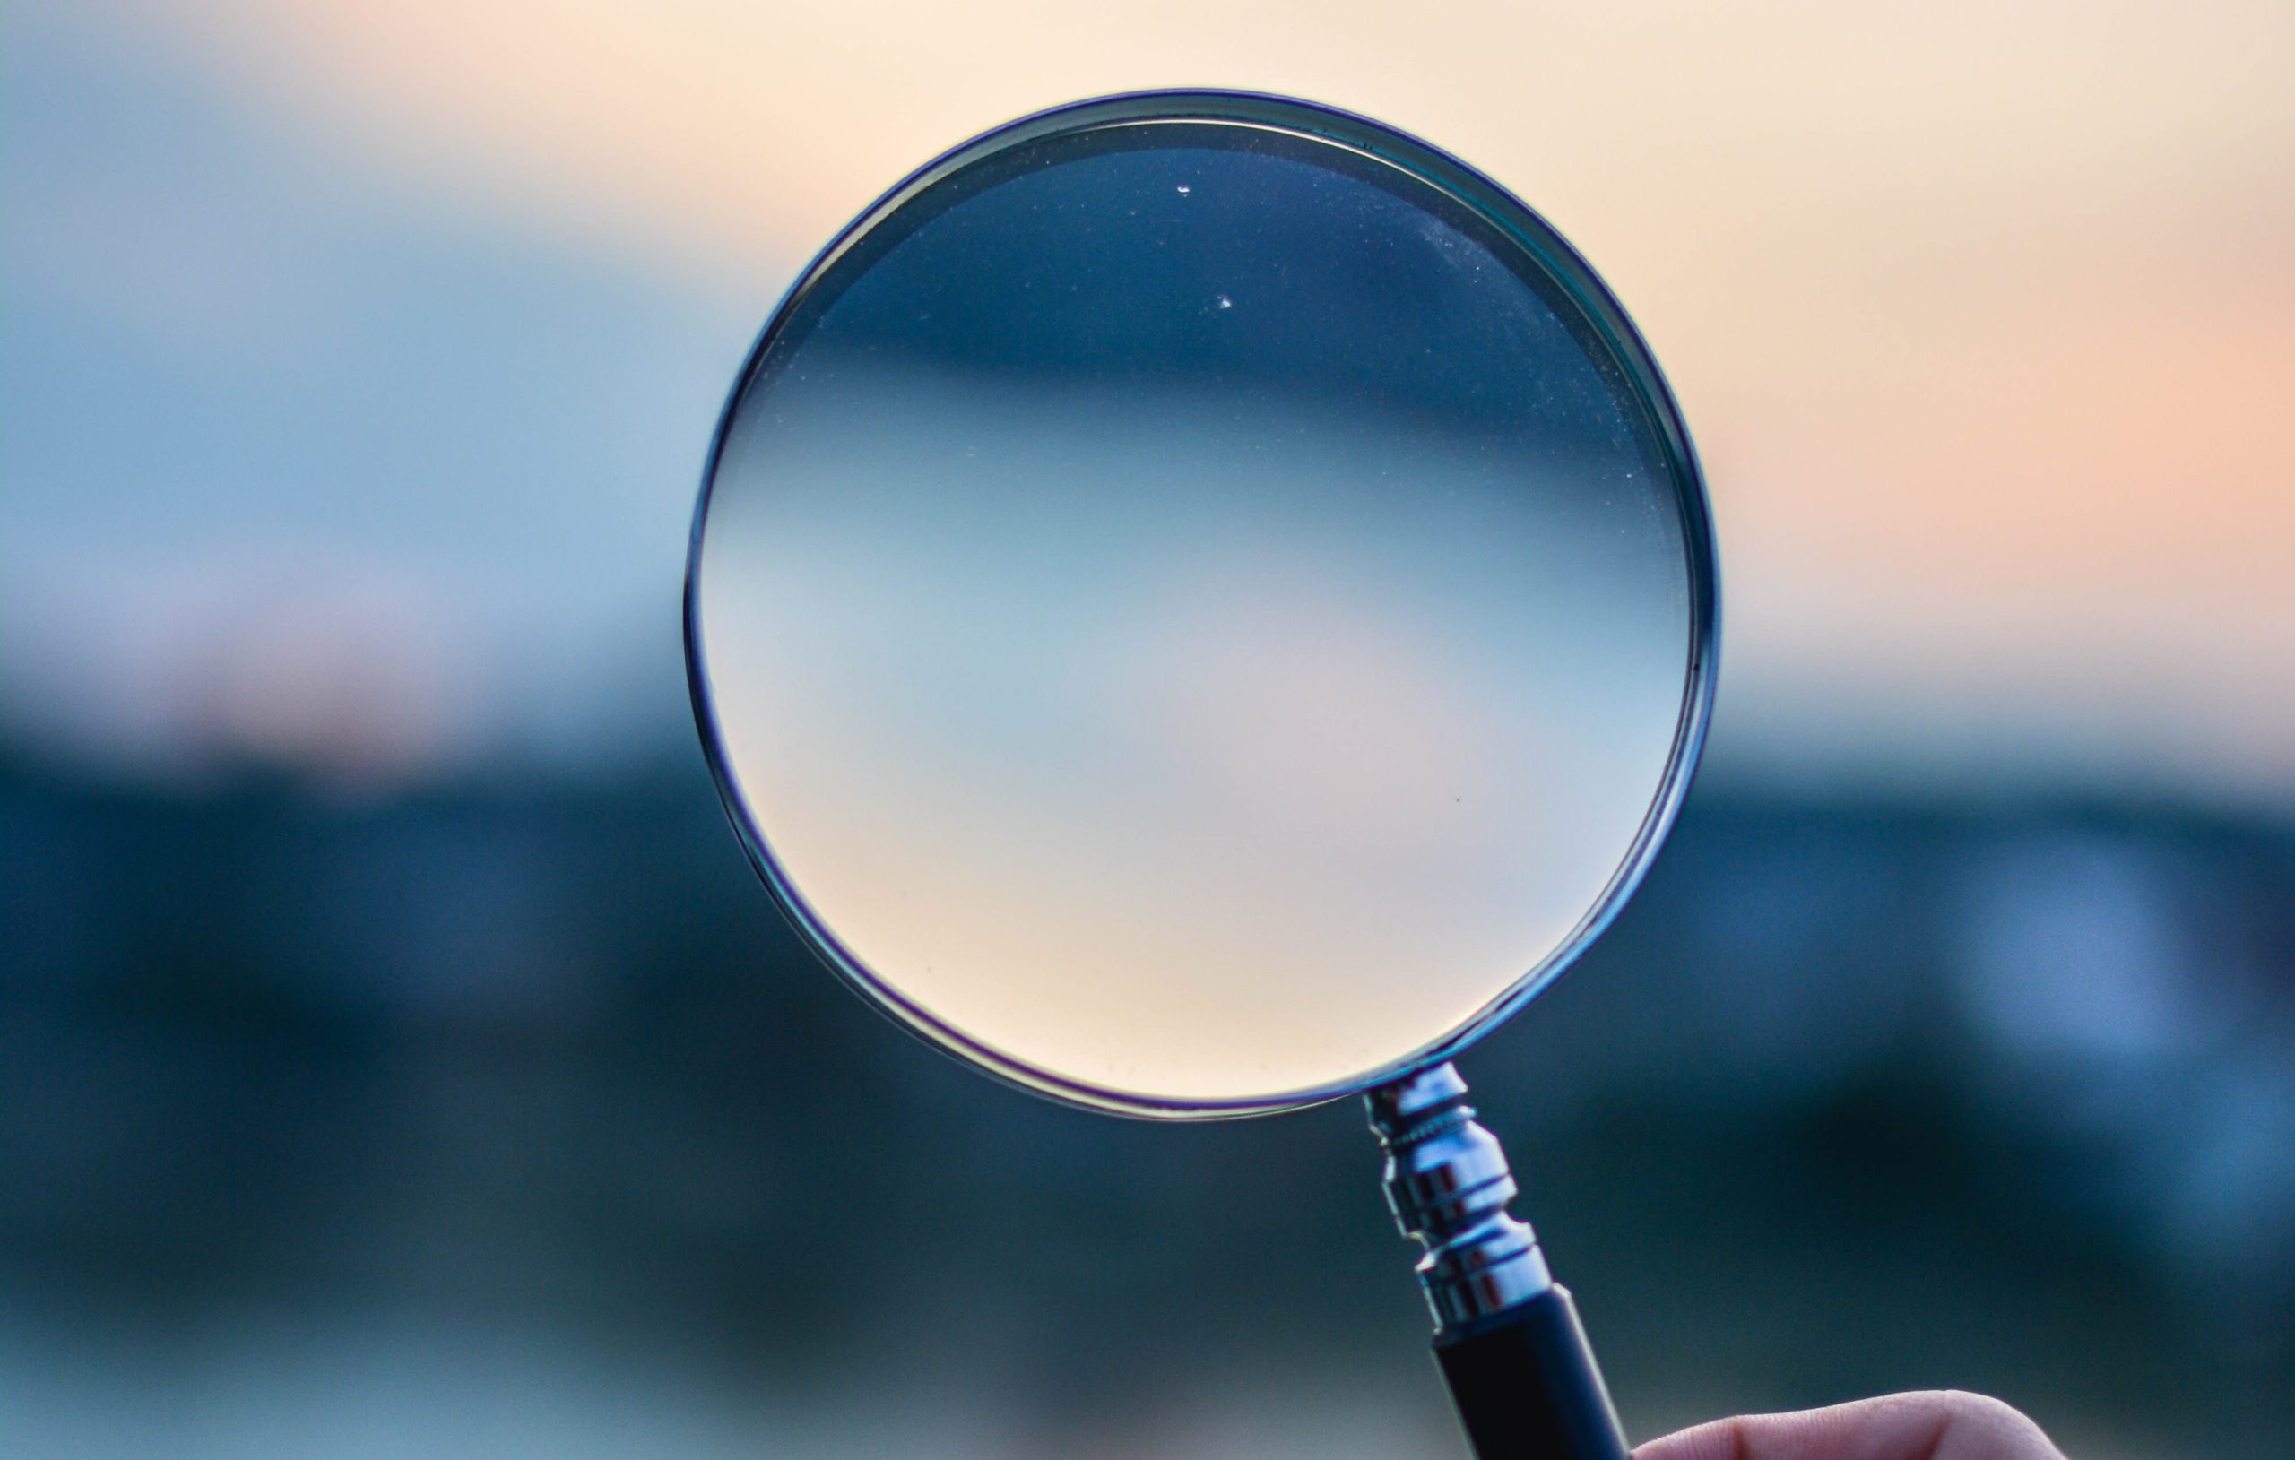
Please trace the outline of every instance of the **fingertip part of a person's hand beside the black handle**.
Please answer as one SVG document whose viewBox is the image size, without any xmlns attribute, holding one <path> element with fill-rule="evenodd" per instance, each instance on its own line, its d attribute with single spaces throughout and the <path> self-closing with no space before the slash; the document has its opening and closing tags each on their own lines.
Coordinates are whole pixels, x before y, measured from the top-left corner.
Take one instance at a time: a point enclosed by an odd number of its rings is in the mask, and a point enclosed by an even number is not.
<svg viewBox="0 0 2295 1460">
<path fill-rule="evenodd" d="M 1634 1460 L 2063 1460 L 2063 1451 L 1997 1398 L 1942 1389 L 1717 1419 L 1652 1439 Z"/>
</svg>

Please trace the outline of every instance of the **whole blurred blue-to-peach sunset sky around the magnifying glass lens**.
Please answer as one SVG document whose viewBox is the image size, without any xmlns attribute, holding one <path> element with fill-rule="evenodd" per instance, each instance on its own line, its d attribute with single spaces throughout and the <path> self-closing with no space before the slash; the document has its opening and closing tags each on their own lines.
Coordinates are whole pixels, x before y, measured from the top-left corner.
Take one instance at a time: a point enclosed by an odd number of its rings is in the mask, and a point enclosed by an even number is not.
<svg viewBox="0 0 2295 1460">
<path fill-rule="evenodd" d="M 427 764 L 682 716 L 663 606 L 700 455 L 803 259 L 1005 117 L 1235 85 L 1462 154 L 1625 298 L 1710 471 L 1740 764 L 2295 803 L 2286 5 L 5 28 L 0 684 L 39 744 Z M 305 611 L 246 647 L 280 604 Z M 379 751 L 335 746 L 383 702 L 411 719 Z"/>
</svg>

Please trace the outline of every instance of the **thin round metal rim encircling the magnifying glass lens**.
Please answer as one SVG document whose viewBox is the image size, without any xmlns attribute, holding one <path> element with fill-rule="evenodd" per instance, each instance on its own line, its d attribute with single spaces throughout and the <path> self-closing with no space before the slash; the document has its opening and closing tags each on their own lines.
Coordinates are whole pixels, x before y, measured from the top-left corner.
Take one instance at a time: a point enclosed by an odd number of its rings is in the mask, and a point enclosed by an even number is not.
<svg viewBox="0 0 2295 1460">
<path fill-rule="evenodd" d="M 723 730 L 716 716 L 716 696 L 709 684 L 709 666 L 702 654 L 700 640 L 700 558 L 702 558 L 702 533 L 709 523 L 709 496 L 716 484 L 718 461 L 725 452 L 725 438 L 732 427 L 734 411 L 741 397 L 748 393 L 753 379 L 757 376 L 767 351 L 773 347 L 783 326 L 796 312 L 796 305 L 828 275 L 847 248 L 851 248 L 863 234 L 893 216 L 904 202 L 941 181 L 943 177 L 968 168 L 987 156 L 1008 152 L 1012 147 L 1024 147 L 1028 142 L 1044 140 L 1049 135 L 1095 131 L 1102 126 L 1125 126 L 1143 122 L 1214 122 L 1214 124 L 1237 124 L 1237 126 L 1267 126 L 1276 131 L 1287 131 L 1301 138 L 1331 142 L 1347 147 L 1352 152 L 1379 158 L 1402 172 L 1421 179 L 1448 193 L 1453 200 L 1478 213 L 1483 220 L 1494 225 L 1506 239 L 1522 248 L 1531 259 L 1535 259 L 1545 273 L 1561 287 L 1561 292 L 1579 308 L 1586 324 L 1611 351 L 1618 367 L 1625 372 L 1634 397 L 1648 413 L 1648 425 L 1664 455 L 1664 466 L 1675 484 L 1675 503 L 1680 507 L 1682 526 L 1682 549 L 1689 565 L 1689 663 L 1682 693 L 1682 714 L 1673 732 L 1673 753 L 1666 762 L 1666 774 L 1659 783 L 1657 794 L 1650 799 L 1650 810 L 1634 836 L 1632 847 L 1618 863 L 1602 895 L 1593 902 L 1586 916 L 1570 930 L 1570 934 L 1533 969 L 1506 987 L 1503 994 L 1483 1005 L 1473 1017 L 1450 1031 L 1446 1038 L 1434 1040 L 1411 1054 L 1356 1074 L 1352 1079 L 1313 1086 L 1306 1090 L 1285 1090 L 1248 1100 L 1175 1100 L 1138 1095 L 1134 1090 L 1115 1090 L 1106 1086 L 1095 1086 L 1088 1081 L 1076 1081 L 1049 1070 L 1037 1070 L 1026 1061 L 1019 1061 L 991 1044 L 985 1044 L 959 1028 L 934 1017 L 929 1010 L 909 1001 L 900 989 L 890 987 L 874 971 L 868 969 L 835 932 L 822 921 L 799 895 L 789 875 L 776 861 L 764 831 L 755 824 L 748 806 L 744 803 L 739 787 L 732 778 L 732 769 L 723 748 Z M 1152 1120 L 1219 1120 L 1237 1116 L 1262 1116 L 1269 1111 L 1301 1109 L 1320 1104 L 1327 1100 L 1338 1100 L 1345 1095 L 1356 1095 L 1372 1086 L 1388 1084 L 1418 1070 L 1423 1065 L 1434 1065 L 1453 1058 L 1464 1047 L 1473 1044 L 1478 1038 L 1489 1033 L 1503 1019 L 1508 1019 L 1524 1003 L 1535 999 L 1549 983 L 1554 983 L 1570 964 L 1574 964 L 1595 939 L 1609 927 L 1625 902 L 1634 895 L 1634 888 L 1648 875 L 1650 863 L 1657 859 L 1657 849 L 1664 845 L 1666 833 L 1673 829 L 1673 820 L 1680 815 L 1682 799 L 1689 792 L 1691 774 L 1698 764 L 1698 753 L 1705 744 L 1705 725 L 1712 719 L 1714 698 L 1714 673 L 1719 666 L 1719 631 L 1721 631 L 1721 606 L 1719 606 L 1719 565 L 1714 560 L 1714 535 L 1712 535 L 1712 505 L 1705 496 L 1705 475 L 1698 466 L 1696 448 L 1689 441 L 1689 427 L 1682 422 L 1680 406 L 1673 399 L 1673 390 L 1666 386 L 1664 374 L 1657 367 L 1657 358 L 1650 354 L 1648 342 L 1643 342 L 1641 331 L 1627 317 L 1625 305 L 1609 292 L 1593 266 L 1554 230 L 1545 218 L 1540 218 L 1528 204 L 1508 193 L 1503 186 L 1485 177 L 1483 172 L 1469 168 L 1460 158 L 1411 138 L 1409 133 L 1395 131 L 1370 117 L 1359 117 L 1317 101 L 1301 101 L 1294 96 L 1274 96 L 1262 92 L 1214 92 L 1214 90 L 1173 90 L 1173 92 L 1122 92 L 1113 96 L 1095 96 L 1088 101 L 1074 101 L 1067 106 L 1056 106 L 1042 112 L 1033 112 L 1017 122 L 1008 122 L 978 138 L 962 142 L 934 161 L 925 163 L 877 202 L 861 211 L 845 230 L 831 239 L 831 243 L 799 273 L 796 282 L 783 296 L 780 305 L 767 319 L 764 331 L 760 331 L 755 344 L 748 351 L 748 360 L 741 365 L 734 379 L 732 393 L 725 397 L 725 409 L 718 413 L 716 434 L 709 443 L 709 459 L 702 468 L 700 500 L 693 510 L 693 535 L 686 549 L 686 585 L 684 585 L 684 640 L 686 640 L 686 686 L 693 696 L 693 719 L 700 728 L 702 753 L 709 762 L 709 774 L 716 781 L 718 797 L 725 803 L 725 815 L 732 820 L 741 847 L 748 852 L 750 863 L 757 868 L 760 879 L 771 891 L 773 902 L 796 927 L 799 937 L 831 966 L 845 983 L 863 994 L 874 1008 L 890 1015 L 900 1026 L 920 1035 L 927 1044 L 939 1047 L 946 1054 L 959 1056 L 962 1061 L 1003 1079 L 1005 1084 L 1019 1086 L 1028 1093 L 1058 1100 L 1063 1104 L 1074 1104 L 1095 1111 L 1108 1111 L 1120 1116 L 1138 1116 Z"/>
</svg>

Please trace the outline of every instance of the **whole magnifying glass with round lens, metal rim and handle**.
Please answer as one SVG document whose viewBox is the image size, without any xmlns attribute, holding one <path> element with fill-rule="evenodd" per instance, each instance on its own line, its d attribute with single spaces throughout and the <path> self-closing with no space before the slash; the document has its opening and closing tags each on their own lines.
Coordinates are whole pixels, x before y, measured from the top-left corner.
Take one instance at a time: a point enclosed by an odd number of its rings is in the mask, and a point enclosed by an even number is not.
<svg viewBox="0 0 2295 1460">
<path fill-rule="evenodd" d="M 1127 1116 L 1368 1095 L 1485 1460 L 1625 1439 L 1448 1061 L 1650 865 L 1714 636 L 1689 434 L 1593 269 L 1237 92 L 1026 117 L 847 225 L 686 576 L 732 822 L 884 1012 Z"/>
</svg>

